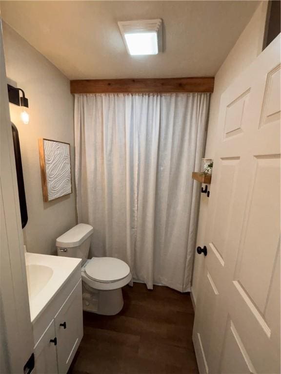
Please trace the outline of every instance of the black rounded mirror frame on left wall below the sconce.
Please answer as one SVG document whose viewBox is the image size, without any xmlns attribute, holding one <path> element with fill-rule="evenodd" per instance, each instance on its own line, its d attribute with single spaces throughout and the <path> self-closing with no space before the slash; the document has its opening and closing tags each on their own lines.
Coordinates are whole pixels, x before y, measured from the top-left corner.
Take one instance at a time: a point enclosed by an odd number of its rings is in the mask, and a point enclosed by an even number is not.
<svg viewBox="0 0 281 374">
<path fill-rule="evenodd" d="M 16 160 L 19 199 L 20 199 L 21 227 L 23 228 L 27 224 L 28 216 L 27 216 L 27 206 L 26 206 L 26 200 L 25 200 L 25 191 L 24 191 L 24 182 L 23 182 L 21 155 L 20 155 L 20 139 L 19 139 L 18 129 L 12 122 L 11 124 L 12 124 L 12 134 L 13 134 L 15 160 Z"/>
</svg>

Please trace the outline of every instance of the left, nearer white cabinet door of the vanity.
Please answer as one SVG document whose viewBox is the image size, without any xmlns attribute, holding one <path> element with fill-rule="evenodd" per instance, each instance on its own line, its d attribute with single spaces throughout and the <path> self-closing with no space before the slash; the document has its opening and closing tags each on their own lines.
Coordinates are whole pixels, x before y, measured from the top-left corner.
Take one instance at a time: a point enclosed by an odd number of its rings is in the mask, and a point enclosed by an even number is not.
<svg viewBox="0 0 281 374">
<path fill-rule="evenodd" d="M 58 374 L 54 319 L 34 347 L 35 373 Z M 55 340 L 52 342 L 51 340 Z"/>
</svg>

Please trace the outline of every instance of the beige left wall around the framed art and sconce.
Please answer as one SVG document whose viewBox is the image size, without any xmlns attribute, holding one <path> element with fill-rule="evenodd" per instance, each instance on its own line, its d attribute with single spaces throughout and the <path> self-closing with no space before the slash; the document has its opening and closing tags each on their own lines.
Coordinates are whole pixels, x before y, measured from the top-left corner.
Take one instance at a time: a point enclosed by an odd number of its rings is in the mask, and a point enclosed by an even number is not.
<svg viewBox="0 0 281 374">
<path fill-rule="evenodd" d="M 76 224 L 75 196 L 72 193 L 43 202 L 38 139 L 70 143 L 74 187 L 73 97 L 69 80 L 5 23 L 3 40 L 9 83 L 14 81 L 29 100 L 28 125 L 20 121 L 19 107 L 10 104 L 11 119 L 19 130 L 28 210 L 24 241 L 29 252 L 54 254 L 56 238 Z"/>
</svg>

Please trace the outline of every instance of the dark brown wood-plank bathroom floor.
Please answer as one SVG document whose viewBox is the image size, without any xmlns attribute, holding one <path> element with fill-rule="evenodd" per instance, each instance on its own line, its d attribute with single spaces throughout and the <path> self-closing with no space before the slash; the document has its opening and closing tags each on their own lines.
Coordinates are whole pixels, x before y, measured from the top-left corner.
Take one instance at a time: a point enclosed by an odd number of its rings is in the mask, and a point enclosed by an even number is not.
<svg viewBox="0 0 281 374">
<path fill-rule="evenodd" d="M 117 316 L 84 312 L 84 337 L 69 374 L 198 373 L 190 295 L 134 283 L 123 297 Z"/>
</svg>

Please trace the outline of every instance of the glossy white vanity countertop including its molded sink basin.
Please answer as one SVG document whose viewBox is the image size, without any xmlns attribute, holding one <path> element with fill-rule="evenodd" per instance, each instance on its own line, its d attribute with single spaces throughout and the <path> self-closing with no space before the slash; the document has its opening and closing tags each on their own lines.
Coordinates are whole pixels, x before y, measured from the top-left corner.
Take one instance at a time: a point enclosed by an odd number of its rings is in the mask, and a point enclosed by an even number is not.
<svg viewBox="0 0 281 374">
<path fill-rule="evenodd" d="M 25 253 L 30 318 L 33 322 L 81 266 L 81 259 Z"/>
</svg>

